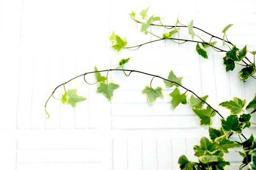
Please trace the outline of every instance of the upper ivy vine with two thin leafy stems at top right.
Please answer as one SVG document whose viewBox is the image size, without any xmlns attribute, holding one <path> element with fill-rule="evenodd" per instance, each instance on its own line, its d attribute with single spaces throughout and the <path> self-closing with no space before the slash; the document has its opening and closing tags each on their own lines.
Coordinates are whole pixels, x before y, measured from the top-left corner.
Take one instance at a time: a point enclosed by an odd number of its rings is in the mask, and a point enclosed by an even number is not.
<svg viewBox="0 0 256 170">
<path fill-rule="evenodd" d="M 121 38 L 118 35 L 116 35 L 114 32 L 112 33 L 110 40 L 113 43 L 113 48 L 116 51 L 121 51 L 123 48 L 128 49 L 128 50 L 137 50 L 141 46 L 149 44 L 149 43 L 154 43 L 157 41 L 163 41 L 163 40 L 171 40 L 172 42 L 178 43 L 178 44 L 183 44 L 185 42 L 195 42 L 196 48 L 195 50 L 197 53 L 204 57 L 205 59 L 208 59 L 208 52 L 206 48 L 212 48 L 213 50 L 217 52 L 225 52 L 225 56 L 223 57 L 223 63 L 226 66 L 226 71 L 233 71 L 235 68 L 235 65 L 241 65 L 244 68 L 242 68 L 239 71 L 239 77 L 242 79 L 244 82 L 247 81 L 250 77 L 253 79 L 256 79 L 255 73 L 256 73 L 256 66 L 255 66 L 255 55 L 256 51 L 250 51 L 250 53 L 253 55 L 253 62 L 250 61 L 250 59 L 247 57 L 247 45 L 245 45 L 241 50 L 236 47 L 232 42 L 230 42 L 227 39 L 227 34 L 226 32 L 228 29 L 233 26 L 233 24 L 227 25 L 223 30 L 223 38 L 217 37 L 215 35 L 212 35 L 208 33 L 207 31 L 204 31 L 201 28 L 195 27 L 193 25 L 193 20 L 188 24 L 184 25 L 183 23 L 180 23 L 180 20 L 177 18 L 175 25 L 163 25 L 161 22 L 160 17 L 154 17 L 152 15 L 147 19 L 147 12 L 148 8 L 142 10 L 140 12 L 140 16 L 142 17 L 142 20 L 144 22 L 141 22 L 137 19 L 136 14 L 132 11 L 130 17 L 136 22 L 141 24 L 141 32 L 144 32 L 145 34 L 151 34 L 154 37 L 156 37 L 156 40 L 152 40 L 149 42 L 145 42 L 143 44 L 139 45 L 134 45 L 127 47 L 127 42 L 126 42 L 126 37 Z M 159 22 L 160 24 L 155 24 L 154 22 Z M 153 32 L 149 31 L 149 28 L 151 26 L 155 27 L 163 27 L 169 30 L 169 32 L 163 34 L 161 36 L 154 34 Z M 180 28 L 187 28 L 188 29 L 188 34 L 191 35 L 191 39 L 183 39 L 183 38 L 174 38 L 175 34 L 177 34 L 180 31 Z M 209 36 L 209 41 L 203 40 L 199 35 L 195 34 L 195 31 L 193 29 L 197 29 L 198 31 L 203 32 L 204 34 Z M 172 31 L 170 31 L 172 30 Z M 198 40 L 194 40 L 194 38 L 197 37 Z M 212 39 L 218 39 L 222 41 L 222 47 L 217 47 L 218 41 L 212 41 Z M 200 45 L 201 44 L 201 45 Z M 252 57 L 252 56 L 251 56 Z"/>
</svg>

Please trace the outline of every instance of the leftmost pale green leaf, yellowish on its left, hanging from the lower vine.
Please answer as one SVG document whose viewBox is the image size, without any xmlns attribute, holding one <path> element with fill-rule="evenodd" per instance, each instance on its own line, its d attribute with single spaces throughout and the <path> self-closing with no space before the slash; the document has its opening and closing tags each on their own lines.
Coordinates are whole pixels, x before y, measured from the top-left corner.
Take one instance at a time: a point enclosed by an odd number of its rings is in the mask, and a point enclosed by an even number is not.
<svg viewBox="0 0 256 170">
<path fill-rule="evenodd" d="M 71 105 L 73 108 L 75 108 L 77 102 L 82 102 L 87 99 L 83 96 L 78 96 L 76 92 L 76 88 L 68 89 L 67 93 L 65 92 L 64 94 L 62 94 L 61 102 L 63 104 Z"/>
</svg>

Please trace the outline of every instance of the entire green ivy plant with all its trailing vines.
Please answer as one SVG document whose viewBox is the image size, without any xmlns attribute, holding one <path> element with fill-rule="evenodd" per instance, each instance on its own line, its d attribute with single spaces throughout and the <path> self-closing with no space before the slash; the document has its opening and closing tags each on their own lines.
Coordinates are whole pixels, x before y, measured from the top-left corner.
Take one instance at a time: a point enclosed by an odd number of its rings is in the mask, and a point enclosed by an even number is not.
<svg viewBox="0 0 256 170">
<path fill-rule="evenodd" d="M 121 38 L 116 35 L 114 32 L 112 33 L 110 40 L 112 41 L 112 47 L 116 51 L 121 51 L 122 49 L 138 49 L 143 45 L 148 43 L 153 43 L 160 40 L 171 40 L 175 43 L 185 43 L 185 42 L 195 42 L 195 50 L 197 53 L 204 57 L 208 58 L 208 51 L 206 48 L 213 48 L 215 51 L 224 53 L 224 65 L 226 66 L 226 71 L 233 71 L 235 65 L 242 65 L 243 68 L 240 73 L 240 78 L 244 82 L 247 79 L 252 78 L 256 79 L 254 76 L 256 72 L 255 67 L 255 54 L 256 51 L 250 51 L 253 56 L 253 62 L 247 57 L 247 45 L 244 46 L 241 50 L 239 50 L 236 45 L 233 45 L 227 39 L 227 30 L 232 26 L 229 24 L 226 26 L 222 33 L 224 34 L 222 38 L 216 37 L 212 34 L 203 31 L 200 28 L 193 26 L 193 21 L 191 21 L 188 25 L 181 24 L 177 19 L 175 25 L 173 26 L 165 26 L 161 22 L 160 17 L 155 17 L 152 15 L 148 18 L 147 16 L 148 8 L 142 10 L 140 12 L 140 16 L 142 18 L 142 22 L 139 21 L 136 17 L 136 14 L 132 12 L 129 14 L 132 19 L 141 24 L 141 31 L 145 34 L 151 34 L 157 38 L 157 40 L 152 40 L 150 42 L 145 42 L 140 45 L 135 45 L 131 47 L 127 47 L 126 38 Z M 156 24 L 155 22 L 159 22 Z M 161 36 L 157 36 L 154 33 L 148 31 L 148 28 L 151 26 L 164 27 L 169 29 L 168 32 L 164 32 Z M 174 38 L 175 34 L 179 32 L 181 28 L 188 29 L 188 34 L 191 35 L 191 39 L 180 39 Z M 195 34 L 194 29 L 198 29 L 199 31 L 204 32 L 209 35 L 209 41 L 203 40 L 197 34 Z M 195 37 L 198 40 L 195 40 Z M 217 39 L 222 41 L 222 47 L 216 46 L 217 41 L 212 41 L 212 39 Z M 226 50 L 226 48 L 228 50 Z M 120 87 L 118 84 L 114 83 L 114 80 L 109 80 L 108 74 L 109 72 L 120 72 L 122 71 L 126 77 L 129 77 L 132 73 L 139 73 L 143 75 L 147 75 L 151 77 L 151 81 L 145 84 L 145 88 L 141 89 L 141 93 L 145 95 L 148 103 L 150 105 L 154 104 L 154 102 L 158 98 L 163 98 L 163 88 L 168 89 L 170 91 L 169 96 L 171 96 L 171 105 L 172 108 L 175 109 L 178 105 L 186 105 L 187 103 L 191 105 L 192 111 L 195 115 L 198 116 L 200 120 L 200 125 L 209 126 L 209 137 L 202 137 L 200 143 L 194 146 L 195 156 L 198 157 L 197 162 L 189 161 L 185 155 L 180 156 L 178 160 L 178 164 L 180 165 L 181 170 L 223 170 L 226 166 L 230 165 L 230 162 L 224 159 L 224 154 L 228 154 L 230 148 L 241 148 L 243 151 L 238 151 L 239 154 L 243 157 L 243 161 L 241 162 L 241 166 L 239 170 L 248 166 L 249 169 L 256 169 L 256 137 L 251 134 L 251 136 L 244 136 L 243 130 L 245 128 L 250 128 L 251 124 L 255 124 L 255 122 L 251 122 L 250 118 L 253 113 L 256 112 L 256 94 L 254 98 L 250 102 L 246 102 L 245 99 L 240 99 L 238 97 L 233 97 L 229 101 L 221 102 L 219 105 L 229 110 L 229 116 L 224 117 L 222 114 L 213 108 L 208 102 L 207 98 L 209 96 L 198 96 L 194 91 L 182 85 L 183 77 L 177 77 L 173 71 L 170 71 L 169 74 L 166 74 L 166 77 L 160 77 L 158 75 L 154 75 L 151 73 L 146 73 L 143 71 L 137 70 L 128 70 L 125 69 L 125 65 L 130 62 L 130 58 L 121 59 L 119 62 L 119 66 L 117 68 L 111 68 L 108 70 L 98 70 L 95 66 L 94 71 L 87 72 L 76 76 L 64 83 L 58 85 L 49 96 L 45 103 L 45 112 L 47 113 L 47 118 L 49 119 L 49 113 L 47 111 L 47 103 L 51 98 L 55 98 L 55 91 L 63 87 L 64 94 L 62 94 L 62 98 L 59 99 L 65 105 L 71 105 L 73 108 L 76 107 L 77 102 L 82 102 L 87 98 L 84 96 L 79 96 L 77 94 L 76 88 L 74 89 L 66 89 L 65 85 L 70 81 L 83 78 L 84 82 L 88 85 L 97 85 L 96 93 L 103 94 L 109 102 L 112 101 L 113 94 L 117 93 L 117 89 Z M 105 75 L 103 75 L 105 73 Z M 94 74 L 96 78 L 96 83 L 91 84 L 87 81 L 87 75 Z M 152 87 L 152 82 L 154 79 L 162 79 L 163 86 Z M 174 89 L 173 89 L 174 88 Z M 185 90 L 184 93 L 181 93 L 181 89 Z M 189 96 L 188 96 L 189 95 Z M 56 98 L 55 98 L 56 99 Z M 221 127 L 219 129 L 215 129 L 211 127 L 212 125 L 212 117 L 218 115 L 221 121 Z M 237 135 L 239 137 L 239 141 L 230 140 L 230 136 Z"/>
</svg>

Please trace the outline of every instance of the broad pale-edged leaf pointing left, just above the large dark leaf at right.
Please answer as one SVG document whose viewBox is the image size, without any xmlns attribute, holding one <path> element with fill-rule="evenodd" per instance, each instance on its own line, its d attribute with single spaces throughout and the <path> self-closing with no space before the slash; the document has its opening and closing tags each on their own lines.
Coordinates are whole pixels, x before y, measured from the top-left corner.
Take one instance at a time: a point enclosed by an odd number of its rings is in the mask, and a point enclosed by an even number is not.
<svg viewBox="0 0 256 170">
<path fill-rule="evenodd" d="M 229 109 L 230 114 L 241 114 L 244 112 L 243 108 L 245 103 L 245 99 L 242 100 L 238 97 L 233 97 L 233 100 L 222 102 L 219 106 Z"/>
</svg>

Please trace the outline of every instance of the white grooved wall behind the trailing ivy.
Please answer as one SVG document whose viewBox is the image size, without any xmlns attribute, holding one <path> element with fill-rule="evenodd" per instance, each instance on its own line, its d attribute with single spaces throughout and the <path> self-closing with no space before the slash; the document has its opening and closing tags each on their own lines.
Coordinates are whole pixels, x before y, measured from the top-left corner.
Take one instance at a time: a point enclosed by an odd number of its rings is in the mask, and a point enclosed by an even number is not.
<svg viewBox="0 0 256 170">
<path fill-rule="evenodd" d="M 120 85 L 112 103 L 95 93 L 97 85 L 76 79 L 66 88 L 77 88 L 88 99 L 74 110 L 51 98 L 51 118 L 45 119 L 44 103 L 54 88 L 93 71 L 94 65 L 114 68 L 120 59 L 132 57 L 125 68 L 162 77 L 173 70 L 185 87 L 209 95 L 207 101 L 225 117 L 229 111 L 219 103 L 233 96 L 247 103 L 253 99 L 256 81 L 242 82 L 237 65 L 226 73 L 224 53 L 209 50 L 209 59 L 203 59 L 195 43 L 169 41 L 114 51 L 112 31 L 127 37 L 127 46 L 154 40 L 140 33 L 140 25 L 128 16 L 148 6 L 148 15 L 165 18 L 165 24 L 173 25 L 179 15 L 181 23 L 194 20 L 194 26 L 218 37 L 233 23 L 229 40 L 240 49 L 247 44 L 249 51 L 256 50 L 255 0 L 0 0 L 0 170 L 177 170 L 182 154 L 197 161 L 193 146 L 208 136 L 208 127 L 199 125 L 189 105 L 171 108 L 173 88 L 164 88 L 165 97 L 148 105 L 141 94 L 151 80 L 145 75 L 111 72 L 109 79 Z M 164 29 L 151 31 L 161 35 Z M 177 37 L 188 39 L 187 30 Z M 94 75 L 87 79 L 95 81 Z M 152 86 L 158 85 L 164 87 L 155 78 Z M 55 97 L 63 91 L 59 88 Z M 219 127 L 219 118 L 213 118 L 212 127 Z M 238 169 L 242 158 L 232 150 L 226 159 L 232 164 L 227 169 Z"/>
</svg>

